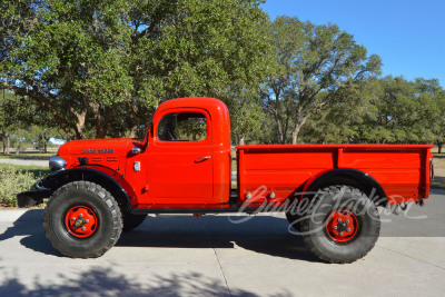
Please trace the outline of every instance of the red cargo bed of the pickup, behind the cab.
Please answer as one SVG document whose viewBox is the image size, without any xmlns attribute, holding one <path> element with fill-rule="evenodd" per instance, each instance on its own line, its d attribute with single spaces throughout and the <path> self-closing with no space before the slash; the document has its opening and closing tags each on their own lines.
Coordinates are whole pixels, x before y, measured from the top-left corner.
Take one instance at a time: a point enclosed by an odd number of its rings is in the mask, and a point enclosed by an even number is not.
<svg viewBox="0 0 445 297">
<path fill-rule="evenodd" d="M 241 200 L 284 201 L 323 174 L 353 168 L 374 178 L 389 204 L 429 195 L 429 145 L 258 145 L 237 147 Z M 251 197 L 251 198 L 248 198 Z"/>
</svg>

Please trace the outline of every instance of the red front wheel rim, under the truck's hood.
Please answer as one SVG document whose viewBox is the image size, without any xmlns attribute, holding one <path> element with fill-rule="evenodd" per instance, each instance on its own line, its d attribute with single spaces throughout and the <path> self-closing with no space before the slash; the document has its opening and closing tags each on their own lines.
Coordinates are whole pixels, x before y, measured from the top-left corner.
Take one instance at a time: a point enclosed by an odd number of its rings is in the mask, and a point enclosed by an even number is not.
<svg viewBox="0 0 445 297">
<path fill-rule="evenodd" d="M 65 216 L 67 230 L 80 238 L 86 238 L 95 234 L 98 219 L 95 211 L 87 206 L 71 207 Z"/>
</svg>

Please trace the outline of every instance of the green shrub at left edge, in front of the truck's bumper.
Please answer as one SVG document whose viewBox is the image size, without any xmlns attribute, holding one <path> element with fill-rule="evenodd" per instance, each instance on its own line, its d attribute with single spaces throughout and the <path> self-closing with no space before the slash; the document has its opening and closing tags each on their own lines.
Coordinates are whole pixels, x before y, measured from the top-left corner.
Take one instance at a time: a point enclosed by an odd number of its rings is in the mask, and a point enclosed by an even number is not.
<svg viewBox="0 0 445 297">
<path fill-rule="evenodd" d="M 16 195 L 29 190 L 34 182 L 36 177 L 32 172 L 0 167 L 0 206 L 17 206 Z"/>
</svg>

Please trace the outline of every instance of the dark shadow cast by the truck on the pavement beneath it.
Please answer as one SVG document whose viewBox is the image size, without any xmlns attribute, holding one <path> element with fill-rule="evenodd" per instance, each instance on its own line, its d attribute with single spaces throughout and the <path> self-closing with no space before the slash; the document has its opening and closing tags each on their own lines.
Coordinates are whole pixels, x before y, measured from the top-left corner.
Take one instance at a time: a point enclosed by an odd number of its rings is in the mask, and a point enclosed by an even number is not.
<svg viewBox="0 0 445 297">
<path fill-rule="evenodd" d="M 0 234 L 0 241 L 26 236 L 20 244 L 33 251 L 60 256 L 44 236 L 43 210 L 31 209 L 12 227 Z M 246 216 L 231 217 L 239 220 Z M 318 261 L 306 248 L 303 238 L 289 234 L 288 222 L 273 216 L 253 216 L 241 224 L 229 216 L 158 216 L 132 231 L 123 232 L 116 246 L 159 248 L 241 248 L 276 257 Z"/>
</svg>

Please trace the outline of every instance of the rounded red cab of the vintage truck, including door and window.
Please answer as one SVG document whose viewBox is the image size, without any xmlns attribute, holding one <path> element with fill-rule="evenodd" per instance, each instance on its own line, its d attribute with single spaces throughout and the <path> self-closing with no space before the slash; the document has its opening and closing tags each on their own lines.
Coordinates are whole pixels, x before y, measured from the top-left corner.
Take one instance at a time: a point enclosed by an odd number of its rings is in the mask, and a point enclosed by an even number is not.
<svg viewBox="0 0 445 297">
<path fill-rule="evenodd" d="M 230 119 L 217 99 L 169 100 L 159 106 L 142 146 L 149 190 L 142 204 L 227 204 Z"/>
</svg>

